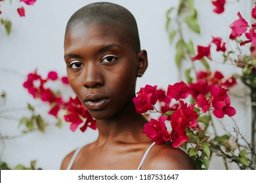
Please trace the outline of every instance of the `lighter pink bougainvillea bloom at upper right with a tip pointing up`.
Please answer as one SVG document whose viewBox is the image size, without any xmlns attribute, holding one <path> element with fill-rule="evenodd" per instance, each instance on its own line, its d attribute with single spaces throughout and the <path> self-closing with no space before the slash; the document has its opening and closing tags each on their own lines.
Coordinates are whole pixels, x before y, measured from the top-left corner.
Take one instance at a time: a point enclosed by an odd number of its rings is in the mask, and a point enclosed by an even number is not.
<svg viewBox="0 0 256 183">
<path fill-rule="evenodd" d="M 229 27 L 232 29 L 232 32 L 229 36 L 230 39 L 236 39 L 236 37 L 240 37 L 240 35 L 245 33 L 247 27 L 249 26 L 240 14 L 240 12 L 238 12 L 238 17 L 238 20 L 234 21 L 232 24 L 229 25 Z"/>
</svg>

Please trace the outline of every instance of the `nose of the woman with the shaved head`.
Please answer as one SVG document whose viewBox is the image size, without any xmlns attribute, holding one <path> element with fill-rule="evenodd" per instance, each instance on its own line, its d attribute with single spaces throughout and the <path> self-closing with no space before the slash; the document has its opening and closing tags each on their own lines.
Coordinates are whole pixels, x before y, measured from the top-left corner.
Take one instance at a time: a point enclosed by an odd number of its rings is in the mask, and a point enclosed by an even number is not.
<svg viewBox="0 0 256 183">
<path fill-rule="evenodd" d="M 104 79 L 100 68 L 95 64 L 87 65 L 83 77 L 83 86 L 85 88 L 97 88 L 104 84 Z"/>
</svg>

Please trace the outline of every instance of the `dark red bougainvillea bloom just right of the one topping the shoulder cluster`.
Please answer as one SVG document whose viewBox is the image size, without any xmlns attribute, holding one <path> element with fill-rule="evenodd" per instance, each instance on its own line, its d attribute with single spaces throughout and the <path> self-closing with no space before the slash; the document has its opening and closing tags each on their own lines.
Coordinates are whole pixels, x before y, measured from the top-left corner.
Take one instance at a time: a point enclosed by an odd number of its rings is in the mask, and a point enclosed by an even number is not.
<svg viewBox="0 0 256 183">
<path fill-rule="evenodd" d="M 206 95 L 209 92 L 209 85 L 207 81 L 203 79 L 198 79 L 198 82 L 188 84 L 188 87 L 190 89 L 189 93 L 194 99 L 200 94 Z"/>
</svg>

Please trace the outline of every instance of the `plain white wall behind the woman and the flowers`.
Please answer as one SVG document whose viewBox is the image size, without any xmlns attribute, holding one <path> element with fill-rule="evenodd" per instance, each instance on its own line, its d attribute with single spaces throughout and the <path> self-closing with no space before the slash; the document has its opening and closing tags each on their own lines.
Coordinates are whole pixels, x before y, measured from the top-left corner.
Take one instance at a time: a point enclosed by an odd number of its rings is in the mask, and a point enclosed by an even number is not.
<svg viewBox="0 0 256 183">
<path fill-rule="evenodd" d="M 0 93 L 3 91 L 7 93 L 7 101 L 0 103 L 0 111 L 5 108 L 26 107 L 28 102 L 35 105 L 41 104 L 34 101 L 32 96 L 22 88 L 22 82 L 26 79 L 26 75 L 36 68 L 43 76 L 52 70 L 60 75 L 66 74 L 63 59 L 66 22 L 75 10 L 92 2 L 96 1 L 38 0 L 35 5 L 25 7 L 25 18 L 20 18 L 16 14 L 15 1 L 11 7 L 6 2 L 1 6 L 3 12 L 1 16 L 10 18 L 13 26 L 9 36 L 3 29 L 0 31 Z M 149 67 L 146 74 L 138 80 L 138 90 L 145 84 L 158 84 L 160 87 L 167 88 L 168 84 L 177 82 L 179 73 L 174 63 L 175 48 L 169 44 L 165 32 L 165 12 L 169 7 L 177 6 L 178 1 L 116 0 L 110 2 L 118 3 L 131 10 L 139 25 L 142 49 L 148 51 Z M 198 44 L 207 44 L 211 40 L 211 35 L 227 36 L 230 31 L 223 27 L 236 20 L 234 14 L 238 9 L 241 10 L 245 19 L 249 18 L 250 0 L 239 3 L 235 0 L 230 2 L 228 10 L 219 16 L 211 12 L 213 7 L 210 1 L 195 1 L 198 21 L 202 27 L 202 37 L 189 35 L 194 37 Z M 225 21 L 220 24 L 223 18 Z M 47 110 L 48 108 L 44 105 L 37 109 L 41 114 L 45 114 Z M 242 116 L 245 115 L 244 113 Z M 28 114 L 26 110 L 0 113 L 0 135 L 11 136 L 20 133 L 18 119 L 25 114 Z M 12 119 L 3 118 L 10 118 L 10 116 Z M 54 118 L 45 117 L 49 124 L 54 124 Z M 62 158 L 68 152 L 79 145 L 94 141 L 96 136 L 97 132 L 92 130 L 87 130 L 85 133 L 77 130 L 73 133 L 66 123 L 62 129 L 54 126 L 47 127 L 45 134 L 35 132 L 18 139 L 1 141 L 0 158 L 9 163 L 10 167 L 18 163 L 28 166 L 29 162 L 35 159 L 37 165 L 43 169 L 59 169 Z M 213 165 L 213 169 L 219 168 Z"/>
</svg>

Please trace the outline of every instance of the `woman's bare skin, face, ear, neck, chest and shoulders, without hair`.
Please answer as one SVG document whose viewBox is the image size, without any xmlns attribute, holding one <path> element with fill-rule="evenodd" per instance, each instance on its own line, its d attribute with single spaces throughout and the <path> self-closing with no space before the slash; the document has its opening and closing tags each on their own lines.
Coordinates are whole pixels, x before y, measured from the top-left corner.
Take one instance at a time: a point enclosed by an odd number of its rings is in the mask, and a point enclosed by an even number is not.
<svg viewBox="0 0 256 183">
<path fill-rule="evenodd" d="M 98 139 L 84 146 L 71 169 L 137 169 L 152 144 L 141 133 L 147 120 L 135 111 L 138 73 L 148 66 L 122 24 L 77 24 L 66 33 L 64 59 L 70 85 L 96 119 Z M 74 151 L 62 161 L 66 169 Z M 141 169 L 194 169 L 190 158 L 170 144 L 154 145 Z"/>
</svg>

